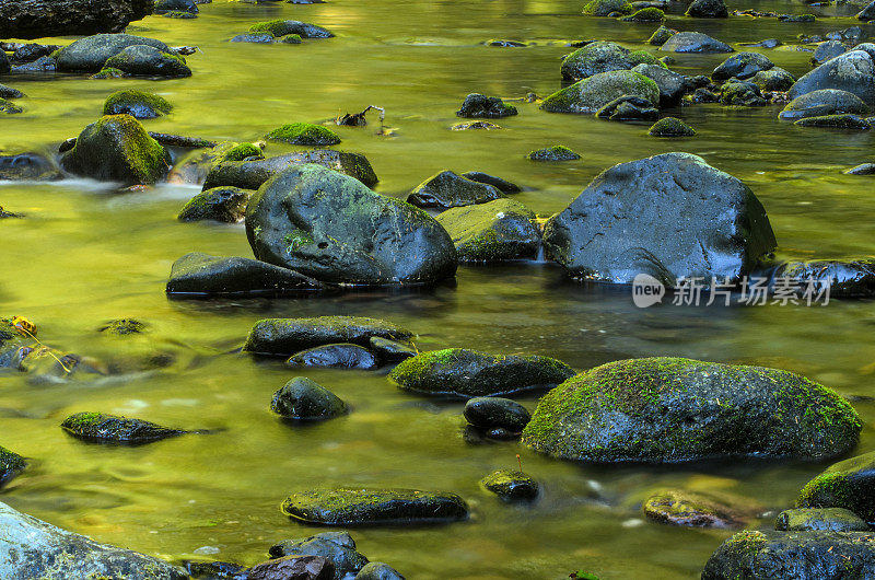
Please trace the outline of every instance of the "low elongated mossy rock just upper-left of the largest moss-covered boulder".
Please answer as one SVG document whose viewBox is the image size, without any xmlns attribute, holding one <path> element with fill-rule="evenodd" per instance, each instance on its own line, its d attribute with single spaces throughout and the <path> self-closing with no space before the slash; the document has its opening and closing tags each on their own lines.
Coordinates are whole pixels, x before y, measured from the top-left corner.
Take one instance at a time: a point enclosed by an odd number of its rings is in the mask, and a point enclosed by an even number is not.
<svg viewBox="0 0 875 580">
<path fill-rule="evenodd" d="M 573 375 L 571 367 L 549 357 L 447 348 L 405 360 L 389 379 L 405 391 L 471 398 L 555 385 Z"/>
</svg>

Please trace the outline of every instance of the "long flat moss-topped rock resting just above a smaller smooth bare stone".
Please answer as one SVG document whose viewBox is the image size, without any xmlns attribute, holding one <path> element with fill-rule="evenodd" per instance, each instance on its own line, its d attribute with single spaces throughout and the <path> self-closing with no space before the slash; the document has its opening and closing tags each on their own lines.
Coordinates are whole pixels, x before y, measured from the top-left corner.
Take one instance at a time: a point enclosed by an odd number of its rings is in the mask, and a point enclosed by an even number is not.
<svg viewBox="0 0 875 580">
<path fill-rule="evenodd" d="M 413 333 L 390 322 L 359 316 L 318 318 L 265 318 L 255 323 L 243 350 L 256 355 L 284 356 L 337 343 L 366 347 L 372 337 L 408 340 Z"/>
</svg>

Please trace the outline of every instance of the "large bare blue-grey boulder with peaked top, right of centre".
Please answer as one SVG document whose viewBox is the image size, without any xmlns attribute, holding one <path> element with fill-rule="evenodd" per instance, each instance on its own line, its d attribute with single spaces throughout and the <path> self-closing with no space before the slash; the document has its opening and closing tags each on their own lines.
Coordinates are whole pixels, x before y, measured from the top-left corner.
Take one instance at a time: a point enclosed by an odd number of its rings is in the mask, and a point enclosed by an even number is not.
<svg viewBox="0 0 875 580">
<path fill-rule="evenodd" d="M 631 283 L 643 272 L 674 285 L 738 279 L 775 240 L 744 183 L 697 155 L 665 153 L 595 177 L 548 220 L 544 245 L 572 277 Z"/>
</svg>

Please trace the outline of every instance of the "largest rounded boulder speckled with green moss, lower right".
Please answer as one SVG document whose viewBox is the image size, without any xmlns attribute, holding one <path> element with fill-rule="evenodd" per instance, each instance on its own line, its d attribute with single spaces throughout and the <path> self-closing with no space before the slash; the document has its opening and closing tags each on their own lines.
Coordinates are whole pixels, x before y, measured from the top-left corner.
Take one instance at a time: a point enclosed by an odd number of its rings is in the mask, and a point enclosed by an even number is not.
<svg viewBox="0 0 875 580">
<path fill-rule="evenodd" d="M 523 442 L 595 462 L 822 460 L 853 449 L 861 425 L 837 393 L 788 371 L 648 358 L 603 364 L 550 391 Z"/>
</svg>

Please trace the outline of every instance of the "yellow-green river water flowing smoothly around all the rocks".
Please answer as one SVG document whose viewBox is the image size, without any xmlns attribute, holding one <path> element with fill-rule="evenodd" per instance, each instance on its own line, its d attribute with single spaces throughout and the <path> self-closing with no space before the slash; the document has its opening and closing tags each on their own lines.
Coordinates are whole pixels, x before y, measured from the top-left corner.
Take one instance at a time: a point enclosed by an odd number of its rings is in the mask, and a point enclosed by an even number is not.
<svg viewBox="0 0 875 580">
<path fill-rule="evenodd" d="M 836 9 L 759 2 L 730 9 L 816 12 Z M 522 97 L 560 86 L 563 39 L 603 38 L 645 47 L 652 24 L 580 15 L 578 1 L 329 0 L 315 5 L 217 1 L 197 20 L 150 16 L 128 32 L 172 46 L 197 45 L 183 80 L 89 80 L 84 76 L 15 77 L 22 115 L 2 119 L 2 144 L 57 144 L 100 116 L 112 91 L 156 92 L 176 109 L 145 121 L 149 130 L 254 140 L 292 121 L 320 121 L 366 105 L 386 108 L 394 138 L 339 128 L 340 149 L 371 160 L 376 190 L 400 196 L 429 175 L 479 170 L 521 183 L 515 198 L 549 216 L 602 170 L 667 151 L 702 155 L 745 181 L 765 205 L 788 257 L 845 257 L 871 252 L 875 198 L 871 177 L 842 175 L 871 161 L 873 136 L 803 129 L 777 120 L 778 106 L 678 109 L 699 135 L 679 141 L 646 137 L 645 125 L 551 115 L 515 103 L 520 115 L 495 131 L 451 131 L 469 92 Z M 830 12 L 831 10 L 831 12 Z M 692 21 L 673 9 L 668 25 L 730 43 L 791 42 L 855 24 L 849 16 L 813 24 L 774 19 Z M 312 22 L 337 38 L 293 45 L 229 44 L 252 23 Z M 537 40 L 491 48 L 489 38 Z M 62 39 L 63 40 L 63 39 Z M 67 40 L 63 40 L 67 42 Z M 653 49 L 653 47 L 650 47 Z M 766 51 L 793 74 L 808 53 Z M 725 56 L 677 56 L 675 70 L 708 73 Z M 374 118 L 375 120 L 375 118 Z M 578 162 L 537 164 L 523 156 L 562 143 Z M 282 152 L 270 146 L 267 153 Z M 638 506 L 661 487 L 720 489 L 790 507 L 824 467 L 791 462 L 731 462 L 675 467 L 593 466 L 552 461 L 516 442 L 474 444 L 464 437 L 463 404 L 395 388 L 384 372 L 306 374 L 352 407 L 343 418 L 308 427 L 282 424 L 271 394 L 294 373 L 281 361 L 235 352 L 252 324 L 268 316 L 362 315 L 420 335 L 420 349 L 471 347 L 541 353 L 584 370 L 607 361 L 673 355 L 780 367 L 853 396 L 866 426 L 860 452 L 873 448 L 875 308 L 832 300 L 826 306 L 637 309 L 628 290 L 564 279 L 552 265 L 460 267 L 454 285 L 392 293 L 361 291 L 318 299 L 168 300 L 164 283 L 180 255 L 201 251 L 250 256 L 242 225 L 180 223 L 194 186 L 161 185 L 118 195 L 88 181 L 0 186 L 0 205 L 26 213 L 4 220 L 0 314 L 23 315 L 47 345 L 113 361 L 127 371 L 164 353 L 162 371 L 126 372 L 68 384 L 34 385 L 0 374 L 0 444 L 27 456 L 28 469 L 0 499 L 100 541 L 170 558 L 195 550 L 254 564 L 280 540 L 320 531 L 279 512 L 289 494 L 360 485 L 444 489 L 465 497 L 469 521 L 445 526 L 361 529 L 353 536 L 372 560 L 412 579 L 562 578 L 585 569 L 609 578 L 690 578 L 732 533 L 670 527 L 642 520 Z M 108 338 L 105 322 L 136 317 L 143 336 Z M 521 401 L 534 409 L 537 395 Z M 69 414 L 101 410 L 167 426 L 215 429 L 139 448 L 85 444 L 58 427 Z M 495 468 L 523 468 L 544 486 L 532 506 L 501 503 L 478 480 Z M 752 525 L 770 524 L 769 518 Z"/>
</svg>

